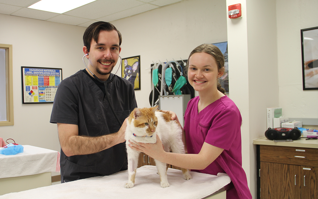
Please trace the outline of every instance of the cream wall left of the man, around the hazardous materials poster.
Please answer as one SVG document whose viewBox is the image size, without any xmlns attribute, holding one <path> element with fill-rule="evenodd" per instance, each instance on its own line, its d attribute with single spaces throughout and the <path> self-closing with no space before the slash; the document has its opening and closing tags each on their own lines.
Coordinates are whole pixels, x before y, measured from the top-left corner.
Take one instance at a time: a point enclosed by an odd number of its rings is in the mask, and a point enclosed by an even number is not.
<svg viewBox="0 0 318 199">
<path fill-rule="evenodd" d="M 57 125 L 49 123 L 52 103 L 22 104 L 21 66 L 62 68 L 63 79 L 84 68 L 84 27 L 0 14 L 0 43 L 12 44 L 14 125 L 0 137 L 59 151 Z"/>
</svg>

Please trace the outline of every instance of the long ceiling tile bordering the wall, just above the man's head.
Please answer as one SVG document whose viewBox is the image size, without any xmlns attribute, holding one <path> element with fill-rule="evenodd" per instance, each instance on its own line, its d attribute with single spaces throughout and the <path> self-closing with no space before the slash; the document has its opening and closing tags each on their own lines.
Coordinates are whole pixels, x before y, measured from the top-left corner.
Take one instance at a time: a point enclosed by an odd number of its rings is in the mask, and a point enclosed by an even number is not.
<svg viewBox="0 0 318 199">
<path fill-rule="evenodd" d="M 146 12 L 155 8 L 159 8 L 159 6 L 152 5 L 152 4 L 143 4 L 143 5 L 136 6 L 134 8 L 130 8 L 128 10 L 120 11 L 120 12 L 102 17 L 102 18 L 98 18 L 97 20 L 110 22 L 117 19 L 133 16 L 142 12 Z"/>
</svg>

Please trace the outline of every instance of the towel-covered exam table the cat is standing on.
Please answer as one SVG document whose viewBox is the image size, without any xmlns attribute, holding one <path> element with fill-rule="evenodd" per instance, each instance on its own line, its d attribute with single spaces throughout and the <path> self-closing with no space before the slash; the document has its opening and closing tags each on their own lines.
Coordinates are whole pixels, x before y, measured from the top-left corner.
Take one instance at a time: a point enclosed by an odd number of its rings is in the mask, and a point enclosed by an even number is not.
<svg viewBox="0 0 318 199">
<path fill-rule="evenodd" d="M 137 168 L 135 186 L 124 188 L 128 181 L 128 171 L 120 171 L 108 176 L 98 176 L 77 181 L 66 182 L 47 187 L 10 193 L 0 196 L 18 199 L 57 199 L 57 198 L 173 198 L 173 199 L 225 199 L 226 189 L 232 183 L 227 174 L 218 175 L 190 172 L 192 179 L 183 179 L 182 171 L 168 168 L 170 187 L 161 188 L 160 177 L 155 166 L 146 165 Z"/>
</svg>

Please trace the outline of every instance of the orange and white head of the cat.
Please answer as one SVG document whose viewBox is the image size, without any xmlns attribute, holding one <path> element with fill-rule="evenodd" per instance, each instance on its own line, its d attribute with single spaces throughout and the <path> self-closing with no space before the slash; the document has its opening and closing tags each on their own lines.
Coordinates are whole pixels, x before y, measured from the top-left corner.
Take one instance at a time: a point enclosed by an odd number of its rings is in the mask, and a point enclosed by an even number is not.
<svg viewBox="0 0 318 199">
<path fill-rule="evenodd" d="M 158 106 L 152 108 L 135 108 L 129 115 L 128 121 L 132 126 L 135 136 L 152 136 L 158 124 L 155 115 Z"/>
</svg>

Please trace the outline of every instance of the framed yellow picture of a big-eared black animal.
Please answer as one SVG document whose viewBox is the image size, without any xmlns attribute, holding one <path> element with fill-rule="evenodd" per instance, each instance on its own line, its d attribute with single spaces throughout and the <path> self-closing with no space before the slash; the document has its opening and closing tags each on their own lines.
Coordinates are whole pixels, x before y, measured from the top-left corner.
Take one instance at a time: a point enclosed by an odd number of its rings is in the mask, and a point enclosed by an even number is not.
<svg viewBox="0 0 318 199">
<path fill-rule="evenodd" d="M 135 90 L 140 90 L 140 55 L 122 59 L 121 77 L 131 82 Z"/>
</svg>

